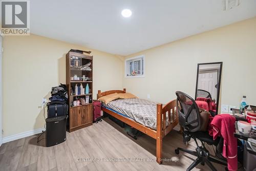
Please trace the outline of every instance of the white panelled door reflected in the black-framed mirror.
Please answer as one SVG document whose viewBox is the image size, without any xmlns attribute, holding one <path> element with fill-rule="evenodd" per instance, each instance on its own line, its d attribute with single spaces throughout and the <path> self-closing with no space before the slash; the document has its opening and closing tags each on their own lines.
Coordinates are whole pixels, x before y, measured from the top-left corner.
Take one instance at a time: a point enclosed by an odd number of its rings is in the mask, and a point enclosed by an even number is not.
<svg viewBox="0 0 256 171">
<path fill-rule="evenodd" d="M 218 71 L 205 71 L 198 76 L 198 89 L 210 93 L 212 99 L 217 99 Z"/>
</svg>

